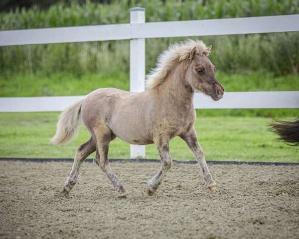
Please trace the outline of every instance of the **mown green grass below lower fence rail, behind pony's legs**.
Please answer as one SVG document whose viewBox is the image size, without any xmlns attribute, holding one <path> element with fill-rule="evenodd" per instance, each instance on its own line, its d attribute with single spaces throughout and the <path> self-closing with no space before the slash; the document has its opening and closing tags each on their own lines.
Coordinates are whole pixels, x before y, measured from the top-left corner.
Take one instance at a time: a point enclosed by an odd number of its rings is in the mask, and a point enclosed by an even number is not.
<svg viewBox="0 0 299 239">
<path fill-rule="evenodd" d="M 72 158 L 78 145 L 89 139 L 84 125 L 71 143 L 54 146 L 58 113 L 1 113 L 0 157 Z M 198 117 L 195 129 L 207 160 L 299 162 L 299 150 L 281 142 L 267 131 L 267 118 Z M 129 158 L 129 144 L 115 139 L 110 144 L 110 158 Z M 159 158 L 154 145 L 147 145 L 147 158 Z M 172 159 L 192 160 L 184 141 L 170 141 Z M 91 155 L 94 157 L 94 154 Z"/>
</svg>

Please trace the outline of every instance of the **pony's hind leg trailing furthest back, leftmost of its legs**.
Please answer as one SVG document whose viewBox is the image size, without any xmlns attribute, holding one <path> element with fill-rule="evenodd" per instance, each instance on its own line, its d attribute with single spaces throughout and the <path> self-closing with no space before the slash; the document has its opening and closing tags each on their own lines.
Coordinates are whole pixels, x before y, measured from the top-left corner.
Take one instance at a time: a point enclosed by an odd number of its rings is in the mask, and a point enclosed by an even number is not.
<svg viewBox="0 0 299 239">
<path fill-rule="evenodd" d="M 81 144 L 77 148 L 72 171 L 70 173 L 70 176 L 67 178 L 66 182 L 64 183 L 64 187 L 63 187 L 64 193 L 69 193 L 72 190 L 72 188 L 77 182 L 79 169 L 82 163 L 94 151 L 96 151 L 96 143 L 93 137 L 91 137 L 86 143 Z"/>
</svg>

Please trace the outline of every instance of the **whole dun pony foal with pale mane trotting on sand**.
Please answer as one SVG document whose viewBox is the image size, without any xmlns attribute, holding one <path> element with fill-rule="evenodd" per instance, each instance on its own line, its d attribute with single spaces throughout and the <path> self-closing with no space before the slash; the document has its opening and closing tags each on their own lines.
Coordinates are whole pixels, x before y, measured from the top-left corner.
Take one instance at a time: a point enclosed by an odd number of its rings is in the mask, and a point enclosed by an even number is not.
<svg viewBox="0 0 299 239">
<path fill-rule="evenodd" d="M 57 132 L 51 141 L 54 144 L 69 142 L 75 135 L 80 117 L 91 138 L 77 148 L 63 191 L 69 193 L 72 190 L 83 161 L 96 151 L 96 163 L 120 196 L 127 197 L 127 190 L 112 172 L 108 161 L 109 143 L 119 137 L 131 144 L 155 144 L 161 167 L 148 181 L 146 191 L 152 195 L 170 168 L 168 144 L 175 136 L 187 143 L 198 160 L 208 188 L 216 191 L 216 183 L 193 127 L 196 118 L 192 102 L 194 89 L 214 101 L 221 99 L 224 93 L 216 80 L 215 67 L 207 58 L 210 50 L 211 46 L 206 47 L 199 40 L 172 45 L 159 56 L 156 68 L 148 75 L 148 90 L 133 93 L 113 88 L 98 89 L 67 108 L 60 115 Z"/>
</svg>

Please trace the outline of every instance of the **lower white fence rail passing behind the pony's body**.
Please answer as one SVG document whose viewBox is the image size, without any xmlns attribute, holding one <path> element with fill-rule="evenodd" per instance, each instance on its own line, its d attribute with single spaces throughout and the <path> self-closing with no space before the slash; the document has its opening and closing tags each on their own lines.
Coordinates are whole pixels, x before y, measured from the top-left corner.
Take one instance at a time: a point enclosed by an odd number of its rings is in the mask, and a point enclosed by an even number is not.
<svg viewBox="0 0 299 239">
<path fill-rule="evenodd" d="M 85 96 L 2 97 L 0 112 L 57 112 L 63 111 Z M 283 109 L 299 108 L 299 91 L 226 92 L 220 101 L 195 93 L 196 109 Z"/>
</svg>

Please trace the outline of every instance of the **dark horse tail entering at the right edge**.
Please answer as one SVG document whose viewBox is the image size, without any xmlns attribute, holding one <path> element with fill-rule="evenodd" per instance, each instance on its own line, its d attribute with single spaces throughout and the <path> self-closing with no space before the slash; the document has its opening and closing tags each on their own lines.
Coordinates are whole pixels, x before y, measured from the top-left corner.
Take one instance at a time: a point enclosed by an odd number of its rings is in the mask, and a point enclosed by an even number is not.
<svg viewBox="0 0 299 239">
<path fill-rule="evenodd" d="M 270 126 L 269 131 L 279 135 L 276 140 L 283 141 L 291 146 L 299 146 L 299 117 L 290 121 L 271 118 L 274 122 L 268 125 Z"/>
</svg>

